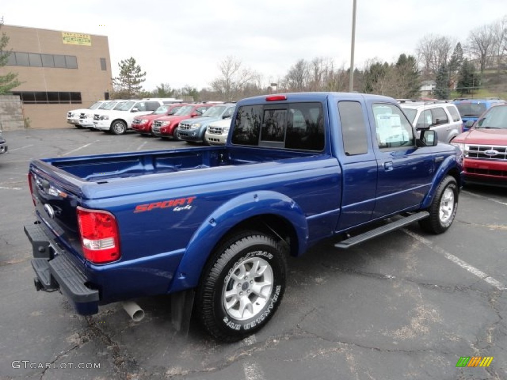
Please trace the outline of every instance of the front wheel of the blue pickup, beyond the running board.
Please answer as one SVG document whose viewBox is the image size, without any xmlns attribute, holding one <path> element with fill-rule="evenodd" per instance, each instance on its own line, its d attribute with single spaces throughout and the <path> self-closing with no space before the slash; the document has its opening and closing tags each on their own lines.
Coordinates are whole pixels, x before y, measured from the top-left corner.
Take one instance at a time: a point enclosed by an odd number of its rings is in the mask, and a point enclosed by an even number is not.
<svg viewBox="0 0 507 380">
<path fill-rule="evenodd" d="M 458 185 L 452 176 L 440 182 L 431 206 L 427 209 L 429 217 L 419 220 L 421 228 L 432 234 L 442 234 L 454 221 L 458 209 Z"/>
</svg>

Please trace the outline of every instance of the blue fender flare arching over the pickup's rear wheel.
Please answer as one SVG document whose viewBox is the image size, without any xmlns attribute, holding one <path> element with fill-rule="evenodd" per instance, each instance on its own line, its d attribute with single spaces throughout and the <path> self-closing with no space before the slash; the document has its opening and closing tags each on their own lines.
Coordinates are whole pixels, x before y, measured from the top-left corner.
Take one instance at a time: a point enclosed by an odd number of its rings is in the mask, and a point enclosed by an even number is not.
<svg viewBox="0 0 507 380">
<path fill-rule="evenodd" d="M 299 252 L 306 250 L 308 223 L 303 210 L 291 198 L 272 191 L 249 192 L 235 197 L 209 214 L 190 239 L 169 287 L 169 293 L 195 288 L 215 245 L 235 225 L 258 215 L 271 214 L 291 222 Z"/>
</svg>

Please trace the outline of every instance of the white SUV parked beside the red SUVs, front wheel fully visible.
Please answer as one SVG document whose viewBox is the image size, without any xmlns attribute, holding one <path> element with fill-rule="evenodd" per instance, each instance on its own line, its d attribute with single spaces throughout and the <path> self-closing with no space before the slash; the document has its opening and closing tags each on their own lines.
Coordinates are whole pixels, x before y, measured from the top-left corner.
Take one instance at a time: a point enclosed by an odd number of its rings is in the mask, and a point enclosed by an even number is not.
<svg viewBox="0 0 507 380">
<path fill-rule="evenodd" d="M 161 105 L 162 100 L 125 100 L 110 111 L 95 113 L 93 128 L 122 135 L 131 128 L 134 117 L 153 113 Z"/>
</svg>

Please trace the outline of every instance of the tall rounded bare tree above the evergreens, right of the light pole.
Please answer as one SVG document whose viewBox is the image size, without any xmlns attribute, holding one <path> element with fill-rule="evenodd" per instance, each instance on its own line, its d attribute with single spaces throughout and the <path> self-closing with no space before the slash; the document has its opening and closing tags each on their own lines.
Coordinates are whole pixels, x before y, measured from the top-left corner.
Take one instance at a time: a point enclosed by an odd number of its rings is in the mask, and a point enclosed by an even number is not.
<svg viewBox="0 0 507 380">
<path fill-rule="evenodd" d="M 434 78 L 439 67 L 449 62 L 456 41 L 451 37 L 427 34 L 417 43 L 416 53 L 424 78 Z"/>
</svg>

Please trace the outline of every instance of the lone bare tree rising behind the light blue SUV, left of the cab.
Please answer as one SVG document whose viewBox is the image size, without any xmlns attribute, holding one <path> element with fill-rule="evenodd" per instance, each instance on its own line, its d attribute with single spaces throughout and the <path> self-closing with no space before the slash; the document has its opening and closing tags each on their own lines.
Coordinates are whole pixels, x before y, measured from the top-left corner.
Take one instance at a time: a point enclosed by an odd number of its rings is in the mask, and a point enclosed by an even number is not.
<svg viewBox="0 0 507 380">
<path fill-rule="evenodd" d="M 220 93 L 224 100 L 236 100 L 243 90 L 259 82 L 260 75 L 243 66 L 241 60 L 228 56 L 219 63 L 221 77 L 211 82 L 211 88 Z"/>
</svg>

